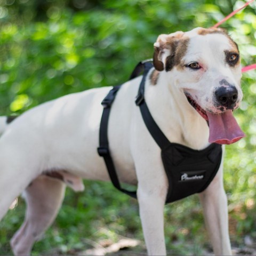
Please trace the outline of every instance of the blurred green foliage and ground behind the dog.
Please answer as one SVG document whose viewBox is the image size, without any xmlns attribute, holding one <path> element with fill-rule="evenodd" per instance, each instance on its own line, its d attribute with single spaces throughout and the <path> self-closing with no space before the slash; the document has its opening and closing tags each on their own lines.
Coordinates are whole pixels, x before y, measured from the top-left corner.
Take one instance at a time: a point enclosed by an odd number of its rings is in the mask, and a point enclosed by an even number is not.
<svg viewBox="0 0 256 256">
<path fill-rule="evenodd" d="M 68 93 L 121 84 L 137 62 L 152 57 L 159 34 L 211 27 L 244 3 L 0 0 L 0 115 L 18 115 Z M 255 8 L 254 2 L 221 25 L 239 45 L 243 66 L 256 62 Z M 224 178 L 231 243 L 250 252 L 256 243 L 255 70 L 243 74 L 242 89 L 244 100 L 235 116 L 247 136 L 226 147 Z M 35 244 L 33 255 L 85 255 L 87 249 L 123 237 L 142 241 L 131 251 L 145 253 L 137 201 L 110 183 L 84 183 L 83 193 L 67 189 L 58 218 Z M 9 241 L 25 207 L 19 198 L 0 222 L 0 255 L 12 254 Z M 211 251 L 197 195 L 165 207 L 165 237 L 170 255 Z"/>
</svg>

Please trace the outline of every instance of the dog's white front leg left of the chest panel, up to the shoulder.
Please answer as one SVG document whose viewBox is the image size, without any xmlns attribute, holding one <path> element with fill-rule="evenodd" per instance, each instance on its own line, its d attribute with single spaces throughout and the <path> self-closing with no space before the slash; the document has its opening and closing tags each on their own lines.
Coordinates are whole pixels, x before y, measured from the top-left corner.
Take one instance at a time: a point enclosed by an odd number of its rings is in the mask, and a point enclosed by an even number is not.
<svg viewBox="0 0 256 256">
<path fill-rule="evenodd" d="M 169 186 L 161 149 L 152 139 L 138 111 L 134 119 L 131 149 L 138 179 L 137 198 L 148 255 L 166 255 L 164 205 Z M 140 125 L 141 124 L 141 125 Z"/>
</svg>

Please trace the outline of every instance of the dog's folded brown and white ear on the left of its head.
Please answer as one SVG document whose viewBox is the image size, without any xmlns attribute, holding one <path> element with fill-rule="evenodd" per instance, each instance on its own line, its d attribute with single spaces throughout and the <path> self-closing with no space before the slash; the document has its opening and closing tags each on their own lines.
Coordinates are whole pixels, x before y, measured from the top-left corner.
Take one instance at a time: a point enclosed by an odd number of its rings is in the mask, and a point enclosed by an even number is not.
<svg viewBox="0 0 256 256">
<path fill-rule="evenodd" d="M 156 70 L 164 70 L 166 57 L 174 56 L 179 39 L 183 34 L 182 31 L 177 31 L 169 35 L 162 34 L 158 36 L 156 43 L 154 43 L 153 56 L 153 64 Z"/>
</svg>

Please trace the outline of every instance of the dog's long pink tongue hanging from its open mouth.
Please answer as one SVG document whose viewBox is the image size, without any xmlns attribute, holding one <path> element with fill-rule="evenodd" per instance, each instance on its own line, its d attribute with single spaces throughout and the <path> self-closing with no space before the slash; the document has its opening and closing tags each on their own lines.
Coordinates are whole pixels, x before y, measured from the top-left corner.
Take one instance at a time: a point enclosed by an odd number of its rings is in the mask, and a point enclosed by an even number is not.
<svg viewBox="0 0 256 256">
<path fill-rule="evenodd" d="M 245 137 L 232 110 L 227 110 L 222 114 L 212 114 L 206 111 L 206 114 L 209 119 L 209 142 L 231 144 Z"/>
</svg>

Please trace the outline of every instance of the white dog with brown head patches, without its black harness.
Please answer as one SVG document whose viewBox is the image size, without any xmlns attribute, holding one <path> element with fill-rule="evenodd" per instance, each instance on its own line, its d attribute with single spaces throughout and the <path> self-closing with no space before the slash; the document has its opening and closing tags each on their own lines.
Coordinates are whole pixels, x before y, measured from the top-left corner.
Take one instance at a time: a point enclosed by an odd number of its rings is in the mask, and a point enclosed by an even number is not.
<svg viewBox="0 0 256 256">
<path fill-rule="evenodd" d="M 244 135 L 233 117 L 239 107 L 241 63 L 237 44 L 221 29 L 195 28 L 160 35 L 145 99 L 167 139 L 201 150 Z M 149 255 L 166 255 L 164 216 L 168 180 L 161 150 L 148 132 L 134 99 L 141 77 L 119 89 L 110 113 L 108 139 L 121 182 L 138 185 L 137 197 Z M 66 185 L 84 189 L 82 179 L 109 181 L 97 154 L 101 101 L 111 87 L 69 94 L 26 111 L 7 124 L 1 118 L 0 219 L 25 191 L 25 221 L 11 239 L 15 255 L 30 254 L 55 219 Z M 215 255 L 231 255 L 223 161 L 199 193 Z M 12 185 L 11 185 L 12 184 Z"/>
</svg>

